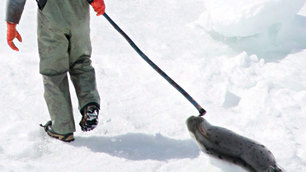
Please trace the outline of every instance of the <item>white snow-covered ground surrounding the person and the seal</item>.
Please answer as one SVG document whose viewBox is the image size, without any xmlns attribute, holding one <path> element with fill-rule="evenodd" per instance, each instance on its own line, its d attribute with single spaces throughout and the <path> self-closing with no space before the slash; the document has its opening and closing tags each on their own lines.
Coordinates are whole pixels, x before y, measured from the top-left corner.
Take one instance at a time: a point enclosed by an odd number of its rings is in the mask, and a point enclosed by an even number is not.
<svg viewBox="0 0 306 172">
<path fill-rule="evenodd" d="M 306 171 L 305 0 L 106 1 L 107 13 L 208 111 L 210 123 L 267 146 L 286 171 Z M 303 6 L 304 5 L 304 6 Z M 5 1 L 0 1 L 4 21 Z M 0 171 L 244 169 L 202 153 L 185 120 L 194 107 L 92 13 L 101 123 L 73 143 L 46 136 L 36 6 L 28 1 L 20 52 L 0 25 Z M 76 124 L 80 120 L 71 88 Z"/>
</svg>

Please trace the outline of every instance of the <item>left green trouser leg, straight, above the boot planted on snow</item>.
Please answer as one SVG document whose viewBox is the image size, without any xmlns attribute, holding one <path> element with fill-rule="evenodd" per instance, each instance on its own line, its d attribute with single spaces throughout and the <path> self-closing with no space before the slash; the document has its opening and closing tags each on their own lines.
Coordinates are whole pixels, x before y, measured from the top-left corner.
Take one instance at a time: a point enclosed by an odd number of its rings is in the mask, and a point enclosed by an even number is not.
<svg viewBox="0 0 306 172">
<path fill-rule="evenodd" d="M 69 93 L 69 29 L 63 22 L 61 0 L 49 0 L 38 11 L 38 46 L 40 73 L 44 81 L 44 97 L 52 120 L 52 129 L 59 134 L 73 133 L 75 124 Z"/>
</svg>

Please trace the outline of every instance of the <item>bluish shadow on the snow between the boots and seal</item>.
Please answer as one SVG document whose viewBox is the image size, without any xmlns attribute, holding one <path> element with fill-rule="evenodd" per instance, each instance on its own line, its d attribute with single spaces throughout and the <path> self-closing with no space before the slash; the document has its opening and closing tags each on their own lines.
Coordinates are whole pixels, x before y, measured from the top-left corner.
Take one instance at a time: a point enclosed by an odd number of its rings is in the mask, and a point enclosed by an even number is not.
<svg viewBox="0 0 306 172">
<path fill-rule="evenodd" d="M 73 146 L 87 147 L 129 160 L 158 160 L 196 158 L 200 149 L 190 140 L 175 140 L 160 134 L 130 133 L 114 137 L 76 137 Z"/>
</svg>

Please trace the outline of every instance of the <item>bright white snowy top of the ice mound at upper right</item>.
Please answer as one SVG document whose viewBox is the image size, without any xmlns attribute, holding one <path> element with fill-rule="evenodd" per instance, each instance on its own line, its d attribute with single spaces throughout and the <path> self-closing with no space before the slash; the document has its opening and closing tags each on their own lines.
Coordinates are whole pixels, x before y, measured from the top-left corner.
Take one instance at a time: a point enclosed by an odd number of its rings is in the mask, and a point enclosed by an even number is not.
<svg viewBox="0 0 306 172">
<path fill-rule="evenodd" d="M 305 0 L 205 0 L 201 22 L 203 27 L 226 36 L 250 36 L 292 20 L 304 3 Z"/>
</svg>

